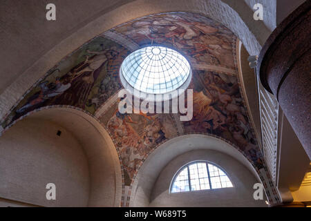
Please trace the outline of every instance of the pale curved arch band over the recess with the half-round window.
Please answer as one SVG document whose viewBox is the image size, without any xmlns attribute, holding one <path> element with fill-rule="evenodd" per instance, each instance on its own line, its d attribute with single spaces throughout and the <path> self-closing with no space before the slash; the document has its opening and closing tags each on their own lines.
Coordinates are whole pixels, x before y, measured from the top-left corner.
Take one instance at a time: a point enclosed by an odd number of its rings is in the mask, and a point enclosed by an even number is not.
<svg viewBox="0 0 311 221">
<path fill-rule="evenodd" d="M 135 206 L 138 198 L 138 201 L 148 205 L 153 184 L 156 182 L 162 169 L 164 169 L 164 166 L 178 157 L 178 155 L 198 150 L 219 151 L 233 157 L 243 164 L 256 177 L 258 182 L 265 186 L 265 193 L 270 203 L 279 203 L 276 199 L 278 197 L 274 198 L 274 193 L 268 184 L 269 180 L 263 175 L 265 172 L 258 171 L 247 157 L 243 155 L 243 151 L 240 151 L 227 141 L 212 135 L 187 134 L 163 142 L 143 160 L 138 173 L 133 177 L 126 206 Z"/>
</svg>

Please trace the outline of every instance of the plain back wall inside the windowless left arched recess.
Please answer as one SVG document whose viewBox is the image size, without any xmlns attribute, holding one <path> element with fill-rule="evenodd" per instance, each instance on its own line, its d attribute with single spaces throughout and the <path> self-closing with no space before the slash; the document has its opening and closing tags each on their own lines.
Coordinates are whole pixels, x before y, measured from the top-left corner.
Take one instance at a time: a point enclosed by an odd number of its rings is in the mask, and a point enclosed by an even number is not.
<svg viewBox="0 0 311 221">
<path fill-rule="evenodd" d="M 26 119 L 12 126 L 0 138 L 0 174 L 0 198 L 37 206 L 88 204 L 86 155 L 77 139 L 53 122 Z M 56 185 L 57 200 L 46 199 L 48 183 Z"/>
</svg>

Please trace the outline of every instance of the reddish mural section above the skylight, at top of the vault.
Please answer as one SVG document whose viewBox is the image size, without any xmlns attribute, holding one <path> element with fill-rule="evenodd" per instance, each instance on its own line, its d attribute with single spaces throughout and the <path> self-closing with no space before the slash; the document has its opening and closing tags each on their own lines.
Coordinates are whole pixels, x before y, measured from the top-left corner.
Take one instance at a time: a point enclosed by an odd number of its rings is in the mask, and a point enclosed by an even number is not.
<svg viewBox="0 0 311 221">
<path fill-rule="evenodd" d="M 218 28 L 209 19 L 183 13 L 145 17 L 116 32 L 140 45 L 162 44 L 184 52 L 198 63 L 235 66 L 232 58 L 232 33 L 224 26 Z"/>
</svg>

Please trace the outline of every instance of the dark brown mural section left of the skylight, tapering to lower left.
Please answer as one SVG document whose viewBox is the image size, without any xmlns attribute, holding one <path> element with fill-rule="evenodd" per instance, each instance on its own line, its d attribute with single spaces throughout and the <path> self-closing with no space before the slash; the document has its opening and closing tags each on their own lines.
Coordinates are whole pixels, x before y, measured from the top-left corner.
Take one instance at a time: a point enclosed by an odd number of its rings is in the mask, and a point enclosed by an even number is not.
<svg viewBox="0 0 311 221">
<path fill-rule="evenodd" d="M 120 63 L 122 57 L 118 56 L 126 55 L 127 51 L 103 37 L 96 39 L 93 44 L 82 47 L 75 52 L 75 60 L 64 61 L 66 65 L 62 65 L 61 61 L 50 70 L 31 93 L 26 95 L 15 111 L 12 111 L 3 125 L 10 124 L 42 106 L 72 105 L 79 108 L 90 106 L 89 109 L 95 111 L 96 107 L 120 88 L 117 78 L 109 71 L 116 69 L 112 65 L 113 61 Z M 92 107 L 94 103 L 95 108 Z"/>
</svg>

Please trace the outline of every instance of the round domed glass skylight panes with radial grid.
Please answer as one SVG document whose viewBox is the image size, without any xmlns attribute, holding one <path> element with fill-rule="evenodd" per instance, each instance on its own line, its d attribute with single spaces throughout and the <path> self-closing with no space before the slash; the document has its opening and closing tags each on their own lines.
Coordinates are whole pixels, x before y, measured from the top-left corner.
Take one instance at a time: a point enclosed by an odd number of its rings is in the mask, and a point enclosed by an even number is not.
<svg viewBox="0 0 311 221">
<path fill-rule="evenodd" d="M 178 89 L 190 73 L 185 57 L 176 50 L 161 46 L 135 50 L 121 66 L 121 74 L 127 83 L 149 94 L 164 94 Z"/>
</svg>

